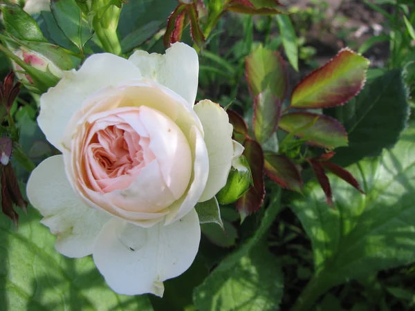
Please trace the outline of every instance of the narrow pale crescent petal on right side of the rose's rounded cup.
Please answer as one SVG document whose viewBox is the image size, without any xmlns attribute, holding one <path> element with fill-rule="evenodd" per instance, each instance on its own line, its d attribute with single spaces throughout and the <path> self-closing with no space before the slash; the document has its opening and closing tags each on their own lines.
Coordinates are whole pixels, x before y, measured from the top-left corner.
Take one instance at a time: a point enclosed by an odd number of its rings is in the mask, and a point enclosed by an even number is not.
<svg viewBox="0 0 415 311">
<path fill-rule="evenodd" d="M 173 203 L 170 213 L 167 214 L 165 224 L 169 225 L 174 221 L 185 216 L 191 211 L 199 201 L 209 174 L 209 158 L 203 137 L 196 126 L 192 126 L 190 131 L 190 149 L 192 149 L 193 171 L 190 179 L 189 189 L 185 195 Z"/>
</svg>

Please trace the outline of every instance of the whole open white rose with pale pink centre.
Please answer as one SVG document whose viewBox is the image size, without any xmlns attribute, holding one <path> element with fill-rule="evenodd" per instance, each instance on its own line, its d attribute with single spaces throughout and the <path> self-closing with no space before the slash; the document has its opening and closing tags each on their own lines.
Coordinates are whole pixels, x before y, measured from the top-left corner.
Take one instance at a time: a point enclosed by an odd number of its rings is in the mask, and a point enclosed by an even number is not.
<svg viewBox="0 0 415 311">
<path fill-rule="evenodd" d="M 194 105 L 199 61 L 92 55 L 40 99 L 39 126 L 62 155 L 31 174 L 28 199 L 68 257 L 93 255 L 120 294 L 163 296 L 199 249 L 194 209 L 225 185 L 243 147 L 219 104 Z"/>
</svg>

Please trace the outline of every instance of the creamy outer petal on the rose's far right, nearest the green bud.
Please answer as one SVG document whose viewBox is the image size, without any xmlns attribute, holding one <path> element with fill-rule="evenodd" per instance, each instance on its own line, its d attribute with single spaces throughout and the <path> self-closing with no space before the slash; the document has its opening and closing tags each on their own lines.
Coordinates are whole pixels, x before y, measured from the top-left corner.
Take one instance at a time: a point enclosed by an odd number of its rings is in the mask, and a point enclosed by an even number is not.
<svg viewBox="0 0 415 311">
<path fill-rule="evenodd" d="M 232 124 L 228 114 L 210 100 L 202 100 L 194 111 L 202 122 L 205 131 L 205 144 L 209 154 L 209 177 L 199 202 L 212 198 L 226 185 L 228 174 L 234 158 Z"/>
</svg>

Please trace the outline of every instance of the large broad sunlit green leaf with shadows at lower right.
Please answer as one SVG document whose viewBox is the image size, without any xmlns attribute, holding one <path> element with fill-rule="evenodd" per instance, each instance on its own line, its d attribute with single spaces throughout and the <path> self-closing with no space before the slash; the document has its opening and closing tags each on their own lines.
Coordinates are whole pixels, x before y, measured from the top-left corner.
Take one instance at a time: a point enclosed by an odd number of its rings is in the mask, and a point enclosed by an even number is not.
<svg viewBox="0 0 415 311">
<path fill-rule="evenodd" d="M 335 209 L 316 182 L 292 208 L 313 245 L 316 294 L 350 279 L 415 261 L 415 124 L 394 149 L 349 167 L 366 196 L 329 176 Z M 315 297 L 317 298 L 317 297 Z M 308 308 L 311 305 L 308 305 Z"/>
</svg>

